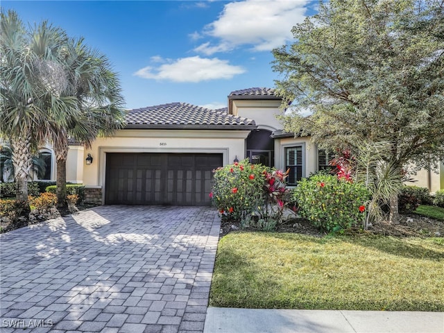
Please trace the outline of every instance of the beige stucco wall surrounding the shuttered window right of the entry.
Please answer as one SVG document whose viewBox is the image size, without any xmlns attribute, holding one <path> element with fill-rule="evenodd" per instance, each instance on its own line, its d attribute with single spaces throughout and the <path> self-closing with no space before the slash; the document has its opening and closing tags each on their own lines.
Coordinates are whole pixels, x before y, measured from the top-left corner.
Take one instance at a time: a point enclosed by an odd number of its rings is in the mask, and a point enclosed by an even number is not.
<svg viewBox="0 0 444 333">
<path fill-rule="evenodd" d="M 318 151 L 316 145 L 311 144 L 309 137 L 275 139 L 275 167 L 283 170 L 285 168 L 285 148 L 297 145 L 302 145 L 302 163 L 305 166 L 302 169 L 302 177 L 308 177 L 310 173 L 318 169 Z"/>
</svg>

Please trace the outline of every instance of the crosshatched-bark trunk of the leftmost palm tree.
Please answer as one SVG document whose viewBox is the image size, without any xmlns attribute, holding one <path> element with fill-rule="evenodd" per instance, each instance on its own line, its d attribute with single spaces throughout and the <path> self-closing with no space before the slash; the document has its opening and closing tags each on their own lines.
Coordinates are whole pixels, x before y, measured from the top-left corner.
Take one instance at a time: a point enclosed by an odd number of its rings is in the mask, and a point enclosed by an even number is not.
<svg viewBox="0 0 444 333">
<path fill-rule="evenodd" d="M 31 137 L 18 138 L 11 142 L 12 164 L 14 165 L 15 196 L 25 207 L 22 216 L 27 216 L 31 209 L 28 205 L 28 176 L 31 170 Z"/>
</svg>

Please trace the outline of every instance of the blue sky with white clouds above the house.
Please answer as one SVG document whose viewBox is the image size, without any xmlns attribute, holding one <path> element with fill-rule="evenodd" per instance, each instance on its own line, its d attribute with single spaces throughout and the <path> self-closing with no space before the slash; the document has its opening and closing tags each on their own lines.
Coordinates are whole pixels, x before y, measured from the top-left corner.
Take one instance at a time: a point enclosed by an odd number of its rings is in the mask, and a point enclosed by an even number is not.
<svg viewBox="0 0 444 333">
<path fill-rule="evenodd" d="M 274 87 L 271 49 L 317 1 L 8 1 L 25 24 L 46 19 L 101 51 L 127 108 L 172 102 L 223 108 L 230 92 Z"/>
</svg>

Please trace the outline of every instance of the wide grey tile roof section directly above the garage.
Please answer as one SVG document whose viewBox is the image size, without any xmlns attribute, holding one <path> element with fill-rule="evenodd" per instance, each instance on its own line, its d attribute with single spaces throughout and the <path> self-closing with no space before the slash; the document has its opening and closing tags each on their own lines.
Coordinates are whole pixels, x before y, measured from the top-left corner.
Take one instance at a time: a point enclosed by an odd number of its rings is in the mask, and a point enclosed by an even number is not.
<svg viewBox="0 0 444 333">
<path fill-rule="evenodd" d="M 256 128 L 252 119 L 227 114 L 226 109 L 210 110 L 189 103 L 169 103 L 130 110 L 126 128 L 248 129 Z"/>
</svg>

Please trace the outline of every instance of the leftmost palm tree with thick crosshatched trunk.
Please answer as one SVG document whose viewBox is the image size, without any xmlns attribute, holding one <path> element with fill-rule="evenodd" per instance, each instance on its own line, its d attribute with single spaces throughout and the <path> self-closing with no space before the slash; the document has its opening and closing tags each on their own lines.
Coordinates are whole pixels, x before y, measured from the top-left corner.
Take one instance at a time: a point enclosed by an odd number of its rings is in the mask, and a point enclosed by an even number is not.
<svg viewBox="0 0 444 333">
<path fill-rule="evenodd" d="M 49 135 L 48 120 L 65 127 L 78 112 L 66 94 L 68 39 L 47 22 L 26 31 L 12 10 L 0 18 L 0 135 L 11 143 L 17 200 L 27 202 L 32 153 Z"/>
</svg>

